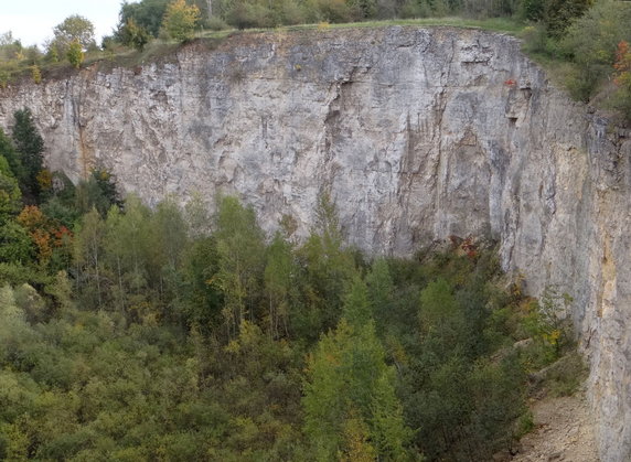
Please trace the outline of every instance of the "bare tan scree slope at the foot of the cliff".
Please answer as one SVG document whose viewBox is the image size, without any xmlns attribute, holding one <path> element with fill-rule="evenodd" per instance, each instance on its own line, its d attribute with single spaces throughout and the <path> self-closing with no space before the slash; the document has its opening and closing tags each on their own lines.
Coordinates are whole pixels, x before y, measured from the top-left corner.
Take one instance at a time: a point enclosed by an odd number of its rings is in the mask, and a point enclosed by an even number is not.
<svg viewBox="0 0 631 462">
<path fill-rule="evenodd" d="M 545 398 L 533 407 L 535 429 L 522 438 L 513 462 L 598 462 L 593 418 L 585 391 Z"/>
</svg>

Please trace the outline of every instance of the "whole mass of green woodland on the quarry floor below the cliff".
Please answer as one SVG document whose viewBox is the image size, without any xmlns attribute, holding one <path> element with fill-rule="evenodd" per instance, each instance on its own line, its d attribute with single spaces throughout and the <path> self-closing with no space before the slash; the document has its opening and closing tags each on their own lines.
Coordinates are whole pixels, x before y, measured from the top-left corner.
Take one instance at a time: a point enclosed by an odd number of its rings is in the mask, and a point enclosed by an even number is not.
<svg viewBox="0 0 631 462">
<path fill-rule="evenodd" d="M 327 195 L 303 243 L 235 197 L 149 208 L 43 169 L 28 109 L 12 127 L 0 459 L 490 460 L 532 427 L 527 374 L 569 343 L 557 299 L 504 289 L 474 240 L 370 260 Z"/>
</svg>

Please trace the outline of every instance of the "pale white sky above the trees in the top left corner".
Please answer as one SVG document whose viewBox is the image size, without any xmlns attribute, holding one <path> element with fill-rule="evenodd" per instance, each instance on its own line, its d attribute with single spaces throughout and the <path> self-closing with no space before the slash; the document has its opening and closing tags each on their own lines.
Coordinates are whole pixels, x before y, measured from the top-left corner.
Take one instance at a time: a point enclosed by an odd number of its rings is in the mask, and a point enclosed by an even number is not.
<svg viewBox="0 0 631 462">
<path fill-rule="evenodd" d="M 42 45 L 53 28 L 72 14 L 92 21 L 96 41 L 111 34 L 122 0 L 0 0 L 0 33 L 13 32 L 22 45 Z M 133 3 L 130 1 L 129 3 Z"/>
</svg>

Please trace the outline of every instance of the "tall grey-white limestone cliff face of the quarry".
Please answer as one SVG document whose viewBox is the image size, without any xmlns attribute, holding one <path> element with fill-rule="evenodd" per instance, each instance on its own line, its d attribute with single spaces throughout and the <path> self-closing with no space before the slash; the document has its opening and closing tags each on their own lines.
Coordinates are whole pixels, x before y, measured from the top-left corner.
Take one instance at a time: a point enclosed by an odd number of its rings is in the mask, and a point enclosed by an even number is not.
<svg viewBox="0 0 631 462">
<path fill-rule="evenodd" d="M 605 461 L 631 456 L 631 133 L 548 85 L 501 34 L 388 28 L 246 34 L 136 69 L 0 92 L 51 169 L 93 165 L 149 203 L 238 194 L 304 236 L 330 192 L 349 240 L 409 255 L 490 236 L 538 293 L 574 297 Z"/>
</svg>

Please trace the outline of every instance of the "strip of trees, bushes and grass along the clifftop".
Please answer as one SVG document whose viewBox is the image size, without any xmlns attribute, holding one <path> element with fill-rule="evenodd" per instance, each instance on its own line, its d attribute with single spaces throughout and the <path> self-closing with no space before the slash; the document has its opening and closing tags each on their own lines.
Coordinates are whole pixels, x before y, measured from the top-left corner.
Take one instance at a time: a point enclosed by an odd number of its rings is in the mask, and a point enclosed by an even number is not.
<svg viewBox="0 0 631 462">
<path fill-rule="evenodd" d="M 620 109 L 631 120 L 631 3 L 618 0 L 141 0 L 124 2 L 119 23 L 97 46 L 93 24 L 72 15 L 56 25 L 41 51 L 24 47 L 11 32 L 0 34 L 0 86 L 49 73 L 84 60 L 115 60 L 129 49 L 149 46 L 151 56 L 169 42 L 210 36 L 229 26 L 370 21 L 375 19 L 510 18 L 535 58 L 544 57 L 579 100 Z M 481 24 L 483 26 L 483 24 Z M 212 35 L 212 34 L 211 34 Z M 140 58 L 140 57 L 139 57 Z"/>
</svg>

